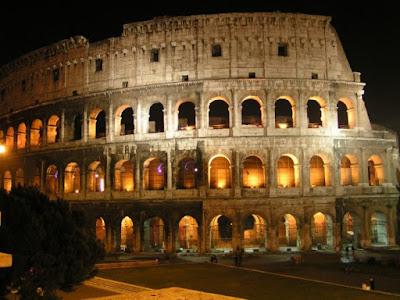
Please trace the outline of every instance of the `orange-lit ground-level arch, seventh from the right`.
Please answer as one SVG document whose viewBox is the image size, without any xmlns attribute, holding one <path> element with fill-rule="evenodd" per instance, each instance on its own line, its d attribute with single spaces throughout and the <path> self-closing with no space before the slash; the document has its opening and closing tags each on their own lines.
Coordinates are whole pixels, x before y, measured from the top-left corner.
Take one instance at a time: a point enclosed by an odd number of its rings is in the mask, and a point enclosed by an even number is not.
<svg viewBox="0 0 400 300">
<path fill-rule="evenodd" d="M 199 248 L 199 225 L 192 216 L 179 221 L 179 248 L 184 252 L 197 252 Z"/>
</svg>

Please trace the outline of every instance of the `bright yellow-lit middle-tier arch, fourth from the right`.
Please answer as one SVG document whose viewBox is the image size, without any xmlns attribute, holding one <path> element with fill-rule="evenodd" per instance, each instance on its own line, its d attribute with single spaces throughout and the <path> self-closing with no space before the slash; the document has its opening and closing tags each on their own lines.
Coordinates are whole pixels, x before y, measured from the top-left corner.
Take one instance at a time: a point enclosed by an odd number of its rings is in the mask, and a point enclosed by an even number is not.
<svg viewBox="0 0 400 300">
<path fill-rule="evenodd" d="M 282 155 L 278 160 L 278 187 L 298 187 L 299 165 L 297 159 L 291 155 Z"/>
</svg>

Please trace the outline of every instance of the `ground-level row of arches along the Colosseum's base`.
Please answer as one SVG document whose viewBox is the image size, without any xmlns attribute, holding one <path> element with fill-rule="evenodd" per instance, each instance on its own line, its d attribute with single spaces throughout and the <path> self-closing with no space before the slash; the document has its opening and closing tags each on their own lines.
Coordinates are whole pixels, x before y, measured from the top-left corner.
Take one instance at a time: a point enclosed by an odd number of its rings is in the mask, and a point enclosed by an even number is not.
<svg viewBox="0 0 400 300">
<path fill-rule="evenodd" d="M 387 245 L 387 225 L 386 217 L 382 212 L 376 211 L 371 215 L 370 239 L 371 245 Z M 263 217 L 252 214 L 249 215 L 241 224 L 239 244 L 247 252 L 268 251 L 268 226 L 267 220 Z M 352 213 L 346 213 L 341 224 L 341 241 L 343 245 L 352 244 L 360 247 L 361 241 L 361 221 L 360 218 Z M 207 233 L 204 239 L 205 249 L 211 252 L 229 252 L 234 248 L 233 245 L 233 221 L 224 215 L 215 216 L 207 224 Z M 135 232 L 133 221 L 126 216 L 120 223 L 120 232 L 113 234 L 119 237 L 119 244 L 110 241 L 107 232 L 107 224 L 103 218 L 96 221 L 96 238 L 100 240 L 108 251 L 141 251 L 141 252 L 165 252 L 167 251 L 167 232 L 160 217 L 152 217 L 144 221 L 140 233 Z M 332 218 L 321 212 L 313 215 L 311 224 L 311 247 L 315 250 L 333 250 L 333 222 Z M 199 252 L 201 243 L 201 228 L 197 220 L 192 216 L 184 216 L 179 221 L 176 229 L 175 241 L 178 252 Z M 281 217 L 274 228 L 274 234 L 281 251 L 296 251 L 302 249 L 301 224 L 298 219 L 285 214 Z M 140 235 L 140 238 L 137 238 Z M 110 249 L 109 244 L 112 244 Z M 135 243 L 140 245 L 135 246 Z M 113 247 L 116 246 L 117 249 Z"/>
</svg>

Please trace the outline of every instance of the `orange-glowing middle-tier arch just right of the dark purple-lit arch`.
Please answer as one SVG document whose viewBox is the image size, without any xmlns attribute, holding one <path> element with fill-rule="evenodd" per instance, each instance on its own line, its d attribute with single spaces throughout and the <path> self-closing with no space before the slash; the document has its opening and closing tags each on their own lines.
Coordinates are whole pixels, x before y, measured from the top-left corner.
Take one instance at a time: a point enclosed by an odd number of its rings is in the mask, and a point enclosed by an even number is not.
<svg viewBox="0 0 400 300">
<path fill-rule="evenodd" d="M 231 164 L 223 156 L 217 156 L 209 165 L 209 186 L 211 189 L 231 188 Z"/>
</svg>

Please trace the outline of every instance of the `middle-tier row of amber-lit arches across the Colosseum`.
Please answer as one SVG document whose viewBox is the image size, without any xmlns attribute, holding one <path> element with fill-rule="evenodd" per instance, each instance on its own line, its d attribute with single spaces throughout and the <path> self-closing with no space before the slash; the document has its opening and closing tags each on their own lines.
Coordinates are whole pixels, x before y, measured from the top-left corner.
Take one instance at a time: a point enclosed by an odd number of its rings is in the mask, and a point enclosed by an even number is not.
<svg viewBox="0 0 400 300">
<path fill-rule="evenodd" d="M 134 165 L 131 161 L 120 160 L 114 166 L 113 187 L 116 191 L 133 191 L 135 185 Z M 178 161 L 174 182 L 177 189 L 197 188 L 200 175 L 200 166 L 191 157 L 183 157 Z M 259 156 L 248 156 L 243 161 L 241 185 L 245 188 L 266 187 L 266 172 L 264 161 Z M 331 168 L 329 161 L 324 156 L 314 155 L 309 161 L 310 186 L 331 185 Z M 39 168 L 34 168 L 30 185 L 40 186 Z M 100 161 L 94 161 L 86 172 L 86 190 L 89 192 L 103 192 L 105 190 L 106 172 Z M 160 158 L 146 160 L 143 166 L 143 188 L 146 190 L 162 190 L 167 186 L 167 166 Z M 300 186 L 300 168 L 298 159 L 291 154 L 281 156 L 277 161 L 277 186 Z M 211 189 L 225 189 L 232 187 L 231 162 L 225 156 L 215 156 L 208 164 L 208 186 Z M 60 192 L 59 186 L 63 184 L 64 193 L 79 193 L 82 190 L 82 171 L 75 162 L 69 163 L 63 176 L 60 176 L 57 166 L 50 165 L 45 175 L 45 190 L 50 194 Z M 63 182 L 60 182 L 63 178 Z M 1 179 L 1 175 L 0 175 Z M 368 159 L 368 180 L 372 186 L 381 185 L 384 182 L 383 162 L 378 155 Z M 13 185 L 10 171 L 4 173 L 3 188 L 11 190 Z M 15 174 L 16 186 L 24 185 L 25 176 L 22 169 Z M 359 167 L 357 159 L 353 155 L 344 155 L 340 165 L 340 184 L 358 185 Z"/>
</svg>

